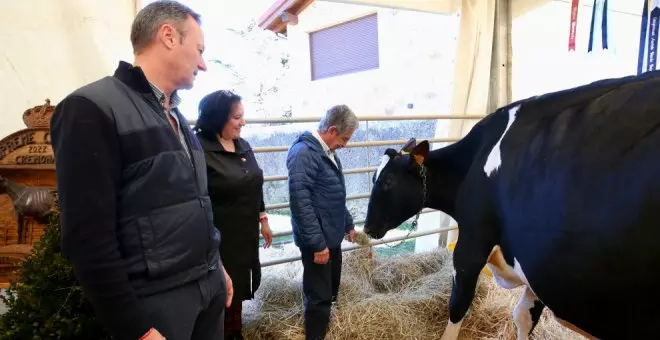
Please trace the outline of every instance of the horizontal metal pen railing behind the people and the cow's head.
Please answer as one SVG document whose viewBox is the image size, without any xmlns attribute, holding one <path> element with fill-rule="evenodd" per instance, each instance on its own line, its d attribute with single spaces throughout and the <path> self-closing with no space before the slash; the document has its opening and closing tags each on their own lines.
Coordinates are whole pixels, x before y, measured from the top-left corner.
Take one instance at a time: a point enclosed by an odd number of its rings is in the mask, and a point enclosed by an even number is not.
<svg viewBox="0 0 660 340">
<path fill-rule="evenodd" d="M 359 121 L 361 122 L 366 122 L 366 141 L 365 142 L 353 142 L 353 143 L 348 143 L 346 145 L 347 148 L 359 148 L 359 147 L 373 147 L 373 146 L 387 146 L 387 145 L 404 145 L 407 140 L 384 140 L 384 141 L 370 141 L 369 140 L 369 122 L 370 121 L 401 121 L 401 120 L 456 120 L 456 119 L 461 119 L 461 120 L 473 120 L 473 119 L 482 119 L 485 116 L 483 115 L 438 115 L 438 114 L 428 114 L 428 115 L 399 115 L 399 116 L 378 116 L 378 115 L 372 115 L 372 116 L 361 116 L 358 117 Z M 315 123 L 318 122 L 321 119 L 321 117 L 295 117 L 295 118 L 265 118 L 265 119 L 248 119 L 246 120 L 247 124 L 283 124 L 283 123 Z M 191 125 L 195 124 L 194 120 L 189 120 L 189 123 Z M 428 138 L 430 143 L 450 143 L 450 142 L 455 142 L 459 140 L 460 138 Z M 270 146 L 270 147 L 255 147 L 252 150 L 255 153 L 266 153 L 266 152 L 284 152 L 288 151 L 289 146 Z M 367 164 L 369 163 L 369 159 L 367 159 Z M 377 167 L 366 167 L 366 168 L 353 168 L 353 169 L 346 169 L 343 171 L 345 175 L 348 174 L 360 174 L 360 173 L 370 173 L 370 172 L 375 172 Z M 286 175 L 278 175 L 278 176 L 268 176 L 264 178 L 265 182 L 274 182 L 274 181 L 286 181 L 288 180 L 288 176 Z M 371 182 L 369 182 L 369 188 L 371 188 Z M 346 200 L 357 200 L 357 199 L 365 199 L 369 198 L 370 194 L 369 193 L 362 193 L 362 194 L 357 194 L 357 195 L 349 195 L 346 197 Z M 275 203 L 275 204 L 268 204 L 266 205 L 266 210 L 279 210 L 279 209 L 285 209 L 290 206 L 289 202 L 283 202 L 283 203 Z M 431 212 L 436 212 L 437 210 L 434 209 L 424 209 L 422 210 L 422 214 L 426 213 L 431 213 Z M 364 220 L 358 220 L 355 221 L 354 223 L 356 225 L 362 225 L 364 224 Z M 406 233 L 406 235 L 402 236 L 394 236 L 394 237 L 385 237 L 381 240 L 370 240 L 369 244 L 366 245 L 349 245 L 347 247 L 342 247 L 342 251 L 350 251 L 350 250 L 355 250 L 358 248 L 362 247 L 371 247 L 371 246 L 376 246 L 376 245 L 381 245 L 381 244 L 387 244 L 387 243 L 392 243 L 392 242 L 397 242 L 397 241 L 404 241 L 408 239 L 414 239 L 422 236 L 428 236 L 428 235 L 433 235 L 433 234 L 438 234 L 442 232 L 447 232 L 451 231 L 454 229 L 457 229 L 458 226 L 449 226 L 449 227 L 442 227 L 442 228 L 435 228 L 431 230 L 424 230 L 424 231 L 413 231 L 410 233 Z M 274 233 L 273 237 L 286 237 L 286 236 L 291 236 L 293 234 L 292 231 L 287 230 L 279 233 Z M 262 238 L 260 236 L 260 238 Z M 288 241 L 292 242 L 292 241 Z M 286 243 L 288 243 L 286 242 Z M 263 261 L 261 263 L 262 267 L 268 267 L 268 266 L 274 266 L 278 264 L 284 264 L 284 263 L 289 263 L 289 262 L 295 262 L 299 261 L 300 256 L 292 256 L 292 257 L 285 257 L 285 258 L 279 258 L 279 259 L 274 259 L 274 260 L 268 260 L 268 261 Z"/>
</svg>

